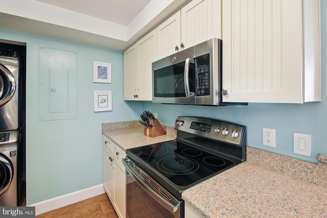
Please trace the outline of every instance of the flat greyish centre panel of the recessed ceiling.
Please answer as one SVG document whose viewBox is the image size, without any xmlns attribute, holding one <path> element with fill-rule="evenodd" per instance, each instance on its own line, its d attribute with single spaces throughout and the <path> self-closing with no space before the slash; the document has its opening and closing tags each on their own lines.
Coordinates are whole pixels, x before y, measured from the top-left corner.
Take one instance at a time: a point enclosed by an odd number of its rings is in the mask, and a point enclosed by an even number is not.
<svg viewBox="0 0 327 218">
<path fill-rule="evenodd" d="M 37 0 L 127 26 L 150 0 Z"/>
</svg>

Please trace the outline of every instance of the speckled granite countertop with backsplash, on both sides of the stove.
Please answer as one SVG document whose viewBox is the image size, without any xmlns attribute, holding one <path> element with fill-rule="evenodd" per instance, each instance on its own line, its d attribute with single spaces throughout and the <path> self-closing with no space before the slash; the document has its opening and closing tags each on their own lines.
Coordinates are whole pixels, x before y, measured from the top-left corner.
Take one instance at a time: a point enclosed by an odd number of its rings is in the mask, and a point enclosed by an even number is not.
<svg viewBox="0 0 327 218">
<path fill-rule="evenodd" d="M 102 124 L 124 150 L 173 140 L 144 135 L 138 120 Z M 182 192 L 204 217 L 327 217 L 327 155 L 318 164 L 247 147 L 247 161 Z"/>
</svg>

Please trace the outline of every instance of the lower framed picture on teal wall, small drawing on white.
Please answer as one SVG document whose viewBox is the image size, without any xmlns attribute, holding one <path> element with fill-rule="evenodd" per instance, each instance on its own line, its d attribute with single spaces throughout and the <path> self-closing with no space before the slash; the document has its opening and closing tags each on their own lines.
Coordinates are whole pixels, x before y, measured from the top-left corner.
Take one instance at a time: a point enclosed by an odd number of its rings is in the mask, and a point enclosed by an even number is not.
<svg viewBox="0 0 327 218">
<path fill-rule="evenodd" d="M 94 92 L 94 111 L 112 110 L 111 91 Z"/>
</svg>

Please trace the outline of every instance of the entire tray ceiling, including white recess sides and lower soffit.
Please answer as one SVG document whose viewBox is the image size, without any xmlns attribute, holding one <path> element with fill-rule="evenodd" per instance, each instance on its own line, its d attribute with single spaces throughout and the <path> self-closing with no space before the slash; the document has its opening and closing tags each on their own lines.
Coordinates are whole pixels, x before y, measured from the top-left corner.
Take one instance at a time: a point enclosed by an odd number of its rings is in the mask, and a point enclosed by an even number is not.
<svg viewBox="0 0 327 218">
<path fill-rule="evenodd" d="M 125 51 L 191 0 L 0 0 L 0 28 Z"/>
</svg>

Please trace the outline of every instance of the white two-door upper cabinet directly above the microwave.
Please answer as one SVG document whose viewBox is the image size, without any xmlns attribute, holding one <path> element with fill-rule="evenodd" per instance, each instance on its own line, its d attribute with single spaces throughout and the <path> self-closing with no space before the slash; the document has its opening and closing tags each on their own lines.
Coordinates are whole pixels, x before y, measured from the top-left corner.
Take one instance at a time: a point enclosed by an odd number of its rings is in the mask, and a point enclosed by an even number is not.
<svg viewBox="0 0 327 218">
<path fill-rule="evenodd" d="M 157 27 L 158 59 L 221 38 L 221 1 L 193 0 Z"/>
</svg>

